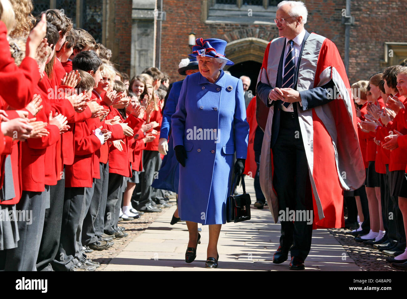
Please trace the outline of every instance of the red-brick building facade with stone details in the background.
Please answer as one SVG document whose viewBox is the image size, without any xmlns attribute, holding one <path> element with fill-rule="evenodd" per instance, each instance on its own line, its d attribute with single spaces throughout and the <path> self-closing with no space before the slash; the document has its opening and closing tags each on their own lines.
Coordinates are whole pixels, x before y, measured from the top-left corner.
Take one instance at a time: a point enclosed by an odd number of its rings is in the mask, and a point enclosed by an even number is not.
<svg viewBox="0 0 407 299">
<path fill-rule="evenodd" d="M 71 3 L 72 2 L 72 3 Z M 182 79 L 178 63 L 190 52 L 188 34 L 228 41 L 226 57 L 240 68 L 259 68 L 267 43 L 278 36 L 275 18 L 278 1 L 268 0 L 34 0 L 39 9 L 64 8 L 65 13 L 86 28 L 85 8 L 100 7 L 100 41 L 112 49 L 112 61 L 129 75 L 155 64 Z M 337 46 L 344 59 L 346 0 L 304 0 L 308 31 L 324 35 Z M 407 57 L 406 1 L 350 0 L 350 82 L 368 77 Z M 50 5 L 48 5 L 50 3 Z M 70 6 L 67 3 L 71 3 Z M 226 4 L 225 4 L 226 3 Z M 240 7 L 236 6 L 236 3 Z M 249 3 L 249 4 L 247 4 Z M 265 4 L 265 5 L 252 5 Z M 91 11 L 94 11 L 91 10 Z M 154 11 L 156 13 L 154 13 Z M 163 12 L 163 13 L 162 13 Z M 249 16 L 250 15 L 250 16 Z M 155 21 L 157 18 L 161 21 Z M 100 25 L 98 25 L 100 26 Z M 251 64 L 252 63 L 252 64 Z M 232 69 L 231 69 L 232 70 Z M 236 68 L 233 70 L 236 71 Z M 255 73 L 255 72 L 254 72 Z M 233 74 L 233 72 L 232 72 Z M 236 73 L 237 74 L 237 73 Z M 252 80 L 256 80 L 252 76 Z"/>
</svg>

